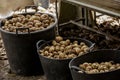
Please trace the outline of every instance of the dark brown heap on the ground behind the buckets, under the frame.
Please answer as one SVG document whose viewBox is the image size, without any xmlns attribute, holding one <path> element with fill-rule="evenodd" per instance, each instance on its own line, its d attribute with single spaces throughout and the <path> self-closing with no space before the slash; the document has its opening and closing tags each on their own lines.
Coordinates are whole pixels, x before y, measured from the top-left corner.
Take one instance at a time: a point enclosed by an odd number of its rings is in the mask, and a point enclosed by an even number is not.
<svg viewBox="0 0 120 80">
<path fill-rule="evenodd" d="M 113 36 L 120 38 L 120 26 L 114 26 L 111 28 L 108 26 L 108 23 L 104 23 L 104 25 L 99 25 L 99 27 L 93 27 L 93 29 L 99 30 L 101 32 L 105 32 L 107 34 L 111 34 Z M 60 35 L 63 37 L 80 37 L 96 44 L 96 49 L 118 49 L 120 48 L 120 42 L 115 40 L 108 40 L 105 36 L 96 34 L 95 32 L 91 32 L 86 29 L 80 29 L 78 26 L 68 25 L 60 27 Z"/>
</svg>

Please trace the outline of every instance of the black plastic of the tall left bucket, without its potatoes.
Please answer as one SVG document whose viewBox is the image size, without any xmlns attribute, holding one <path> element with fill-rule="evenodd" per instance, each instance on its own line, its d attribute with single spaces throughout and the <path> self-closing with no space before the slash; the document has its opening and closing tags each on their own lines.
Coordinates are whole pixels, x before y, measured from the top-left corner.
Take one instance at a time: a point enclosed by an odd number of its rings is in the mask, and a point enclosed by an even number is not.
<svg viewBox="0 0 120 80">
<path fill-rule="evenodd" d="M 26 14 L 35 13 L 24 13 L 23 15 Z M 36 42 L 40 39 L 52 40 L 55 38 L 55 26 L 57 20 L 53 15 L 48 15 L 55 19 L 55 23 L 46 29 L 35 32 L 29 32 L 28 28 L 18 28 L 16 29 L 16 33 L 8 32 L 2 29 L 4 24 L 1 22 L 1 36 L 8 56 L 10 68 L 13 73 L 25 76 L 43 74 L 39 56 L 36 51 Z M 12 16 L 8 19 L 10 18 L 12 18 Z M 19 30 L 21 29 L 27 29 L 28 32 L 19 33 Z"/>
</svg>

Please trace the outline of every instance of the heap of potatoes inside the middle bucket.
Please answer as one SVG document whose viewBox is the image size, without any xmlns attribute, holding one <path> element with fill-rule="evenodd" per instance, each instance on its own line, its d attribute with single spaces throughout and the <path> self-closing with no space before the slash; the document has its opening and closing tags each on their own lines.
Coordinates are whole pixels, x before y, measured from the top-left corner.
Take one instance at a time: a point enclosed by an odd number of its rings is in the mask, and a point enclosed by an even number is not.
<svg viewBox="0 0 120 80">
<path fill-rule="evenodd" d="M 63 40 L 62 37 L 57 36 L 51 45 L 44 47 L 39 53 L 51 59 L 71 59 L 83 55 L 88 51 L 89 47 L 84 42 L 71 42 L 69 39 Z"/>
</svg>

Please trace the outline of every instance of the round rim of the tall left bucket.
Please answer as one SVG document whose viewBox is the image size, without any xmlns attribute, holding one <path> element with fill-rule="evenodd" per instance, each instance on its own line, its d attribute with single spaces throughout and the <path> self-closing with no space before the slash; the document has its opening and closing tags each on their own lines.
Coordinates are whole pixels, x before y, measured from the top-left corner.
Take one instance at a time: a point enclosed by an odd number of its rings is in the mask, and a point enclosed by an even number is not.
<svg viewBox="0 0 120 80">
<path fill-rule="evenodd" d="M 26 14 L 32 14 L 32 15 L 33 15 L 33 14 L 35 14 L 35 13 L 48 14 L 49 16 L 51 16 L 51 17 L 54 18 L 55 22 L 54 22 L 53 24 L 50 24 L 50 25 L 49 25 L 47 28 L 45 28 L 45 29 L 36 30 L 36 31 L 30 32 L 30 34 L 35 34 L 35 33 L 38 33 L 38 32 L 47 31 L 47 30 L 55 27 L 56 24 L 58 23 L 57 17 L 56 17 L 55 15 L 53 15 L 53 14 L 51 14 L 51 13 L 47 13 L 47 12 L 24 12 L 24 13 L 20 13 L 20 15 L 26 15 Z M 19 15 L 19 14 L 18 14 L 18 15 Z M 8 16 L 8 17 L 5 18 L 5 19 L 11 18 L 12 16 L 13 16 L 13 15 Z M 9 31 L 3 30 L 3 29 L 2 29 L 2 25 L 1 25 L 1 24 L 2 24 L 2 21 L 3 21 L 3 20 L 0 21 L 0 31 L 1 31 L 1 32 L 5 32 L 5 33 L 8 33 L 8 34 L 16 34 L 16 32 L 9 32 Z M 28 33 L 27 33 L 27 32 L 22 32 L 22 33 L 19 33 L 19 34 L 20 34 L 20 35 L 24 35 L 24 34 L 28 34 Z"/>
</svg>

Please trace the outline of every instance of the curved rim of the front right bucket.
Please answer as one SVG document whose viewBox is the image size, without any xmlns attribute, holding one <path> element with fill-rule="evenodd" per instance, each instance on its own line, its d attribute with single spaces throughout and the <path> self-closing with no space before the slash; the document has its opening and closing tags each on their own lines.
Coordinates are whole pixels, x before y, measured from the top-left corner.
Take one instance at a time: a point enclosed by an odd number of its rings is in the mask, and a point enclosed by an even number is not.
<svg viewBox="0 0 120 80">
<path fill-rule="evenodd" d="M 92 51 L 92 52 L 88 52 L 87 54 L 93 54 L 93 53 L 95 53 L 95 52 L 100 52 L 100 51 L 117 51 L 117 52 L 120 52 L 120 50 L 115 50 L 115 49 L 98 49 L 98 50 L 95 50 L 95 51 Z M 87 55 L 87 54 L 83 54 L 83 55 L 81 55 L 81 56 L 85 56 L 85 55 Z M 80 58 L 81 56 L 75 57 L 75 58 L 73 58 L 73 59 L 70 60 L 70 62 L 69 62 L 69 69 L 70 69 L 71 71 L 73 71 L 72 68 L 71 68 L 72 62 L 73 62 L 75 59 Z M 119 71 L 119 70 L 120 70 L 120 69 L 115 69 L 115 70 L 111 70 L 111 71 L 108 71 L 108 72 L 100 72 L 100 73 L 92 73 L 92 74 L 88 74 L 88 73 L 84 73 L 84 72 L 83 72 L 83 73 L 79 73 L 79 72 L 77 72 L 77 71 L 75 71 L 75 70 L 74 70 L 74 72 L 75 72 L 75 73 L 78 73 L 78 74 L 85 74 L 85 75 L 101 75 L 101 74 L 112 73 L 112 72 Z"/>
</svg>

